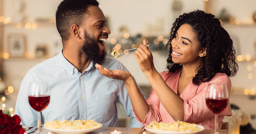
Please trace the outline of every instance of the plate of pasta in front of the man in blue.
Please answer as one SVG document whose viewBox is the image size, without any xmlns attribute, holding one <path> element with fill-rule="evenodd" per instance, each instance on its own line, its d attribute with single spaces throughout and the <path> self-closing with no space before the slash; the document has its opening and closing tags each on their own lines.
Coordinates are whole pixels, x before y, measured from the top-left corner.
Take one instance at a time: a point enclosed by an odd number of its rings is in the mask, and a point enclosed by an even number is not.
<svg viewBox="0 0 256 134">
<path fill-rule="evenodd" d="M 102 124 L 94 120 L 51 121 L 44 124 L 44 128 L 60 134 L 86 134 L 99 129 Z"/>
</svg>

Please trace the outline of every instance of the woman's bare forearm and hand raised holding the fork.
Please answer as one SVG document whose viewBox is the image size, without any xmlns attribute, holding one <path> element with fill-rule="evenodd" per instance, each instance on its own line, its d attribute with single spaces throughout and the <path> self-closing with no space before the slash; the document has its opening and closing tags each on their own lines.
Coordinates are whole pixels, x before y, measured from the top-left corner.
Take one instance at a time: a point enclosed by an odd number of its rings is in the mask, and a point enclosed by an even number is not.
<svg viewBox="0 0 256 134">
<path fill-rule="evenodd" d="M 135 51 L 134 56 L 167 112 L 175 121 L 183 121 L 184 101 L 170 89 L 156 70 L 153 63 L 153 56 L 148 47 L 146 45 L 140 45 Z"/>
</svg>

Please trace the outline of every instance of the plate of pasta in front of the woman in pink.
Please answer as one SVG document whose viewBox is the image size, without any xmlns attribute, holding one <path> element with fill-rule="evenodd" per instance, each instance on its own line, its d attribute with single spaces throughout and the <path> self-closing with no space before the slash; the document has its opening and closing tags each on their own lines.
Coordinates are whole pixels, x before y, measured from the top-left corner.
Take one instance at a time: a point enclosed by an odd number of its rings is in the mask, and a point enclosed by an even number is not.
<svg viewBox="0 0 256 134">
<path fill-rule="evenodd" d="M 145 129 L 154 134 L 196 134 L 205 128 L 194 123 L 177 121 L 176 123 L 151 122 Z"/>
</svg>

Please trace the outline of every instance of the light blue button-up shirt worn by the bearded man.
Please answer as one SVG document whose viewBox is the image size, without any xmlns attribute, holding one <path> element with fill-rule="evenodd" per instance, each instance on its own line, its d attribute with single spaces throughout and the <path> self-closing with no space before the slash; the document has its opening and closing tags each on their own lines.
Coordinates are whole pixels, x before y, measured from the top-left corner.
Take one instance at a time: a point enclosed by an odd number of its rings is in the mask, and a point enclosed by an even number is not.
<svg viewBox="0 0 256 134">
<path fill-rule="evenodd" d="M 81 74 L 62 55 L 49 58 L 31 68 L 22 80 L 15 114 L 23 125 L 37 126 L 37 111 L 28 102 L 31 81 L 46 80 L 50 89 L 50 102 L 41 112 L 42 123 L 53 120 L 95 120 L 104 127 L 117 127 L 116 98 L 132 118 L 130 127 L 141 127 L 133 115 L 132 104 L 122 80 L 101 75 L 93 62 Z M 127 69 L 118 60 L 106 57 L 102 65 L 110 70 Z"/>
</svg>

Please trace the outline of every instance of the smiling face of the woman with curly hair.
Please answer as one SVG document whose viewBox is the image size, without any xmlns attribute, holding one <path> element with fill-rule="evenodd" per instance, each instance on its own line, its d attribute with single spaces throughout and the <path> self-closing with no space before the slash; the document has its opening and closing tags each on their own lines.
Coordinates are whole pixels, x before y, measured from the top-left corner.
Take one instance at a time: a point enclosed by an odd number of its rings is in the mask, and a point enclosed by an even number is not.
<svg viewBox="0 0 256 134">
<path fill-rule="evenodd" d="M 186 23 L 181 25 L 175 38 L 171 40 L 172 61 L 177 64 L 199 66 L 202 62 L 199 44 L 192 27 Z"/>
</svg>

